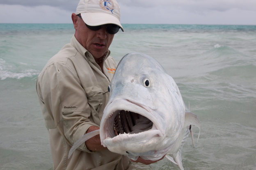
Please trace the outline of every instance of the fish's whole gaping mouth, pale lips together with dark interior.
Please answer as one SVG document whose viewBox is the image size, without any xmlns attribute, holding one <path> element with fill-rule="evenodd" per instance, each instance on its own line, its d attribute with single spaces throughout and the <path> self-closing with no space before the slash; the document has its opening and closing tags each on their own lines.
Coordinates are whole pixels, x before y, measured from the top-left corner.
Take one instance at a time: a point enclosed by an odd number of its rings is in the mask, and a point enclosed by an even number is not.
<svg viewBox="0 0 256 170">
<path fill-rule="evenodd" d="M 101 144 L 108 148 L 117 144 L 124 147 L 128 141 L 146 142 L 163 136 L 165 121 L 153 109 L 127 99 L 114 99 L 105 107 L 101 120 Z"/>
</svg>

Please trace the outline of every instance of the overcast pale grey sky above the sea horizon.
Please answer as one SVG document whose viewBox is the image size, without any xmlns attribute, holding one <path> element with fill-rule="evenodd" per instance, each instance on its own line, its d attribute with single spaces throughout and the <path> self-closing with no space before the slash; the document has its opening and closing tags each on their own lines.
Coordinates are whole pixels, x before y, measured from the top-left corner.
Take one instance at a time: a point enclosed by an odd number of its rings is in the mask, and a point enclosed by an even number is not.
<svg viewBox="0 0 256 170">
<path fill-rule="evenodd" d="M 0 0 L 0 23 L 72 23 L 79 0 Z M 122 24 L 256 25 L 256 0 L 117 0 Z"/>
</svg>

